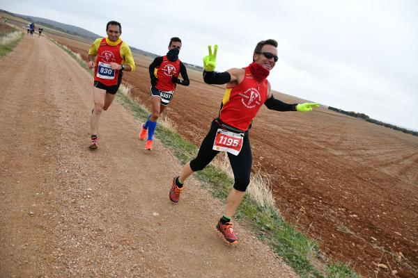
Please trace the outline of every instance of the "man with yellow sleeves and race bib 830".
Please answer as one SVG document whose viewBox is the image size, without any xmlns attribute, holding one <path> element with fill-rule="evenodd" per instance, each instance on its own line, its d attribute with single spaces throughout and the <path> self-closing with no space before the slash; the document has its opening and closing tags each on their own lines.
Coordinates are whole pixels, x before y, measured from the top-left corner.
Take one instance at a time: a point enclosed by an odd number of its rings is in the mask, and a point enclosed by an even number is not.
<svg viewBox="0 0 418 278">
<path fill-rule="evenodd" d="M 98 38 L 88 50 L 88 67 L 94 68 L 93 101 L 91 111 L 91 142 L 90 149 L 98 148 L 99 118 L 102 111 L 107 111 L 114 100 L 123 71 L 135 70 L 134 58 L 129 46 L 119 38 L 122 26 L 111 21 L 106 25 L 107 38 Z M 97 58 L 94 61 L 94 57 Z"/>
</svg>

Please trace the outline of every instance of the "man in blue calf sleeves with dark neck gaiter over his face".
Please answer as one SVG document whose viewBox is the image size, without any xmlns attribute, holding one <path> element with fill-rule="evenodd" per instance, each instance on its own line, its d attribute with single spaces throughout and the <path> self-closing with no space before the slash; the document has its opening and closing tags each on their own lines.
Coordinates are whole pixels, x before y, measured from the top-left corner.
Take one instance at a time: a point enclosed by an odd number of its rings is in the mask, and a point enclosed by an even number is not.
<svg viewBox="0 0 418 278">
<path fill-rule="evenodd" d="M 155 58 L 148 68 L 151 79 L 150 95 L 153 111 L 146 118 L 145 124 L 142 124 L 141 133 L 139 133 L 139 138 L 145 140 L 148 131 L 145 149 L 153 149 L 153 135 L 157 126 L 157 119 L 173 98 L 176 85 L 188 86 L 190 83 L 186 67 L 178 58 L 180 49 L 180 38 L 171 38 L 167 55 Z M 179 74 L 181 74 L 183 80 L 178 79 Z"/>
</svg>

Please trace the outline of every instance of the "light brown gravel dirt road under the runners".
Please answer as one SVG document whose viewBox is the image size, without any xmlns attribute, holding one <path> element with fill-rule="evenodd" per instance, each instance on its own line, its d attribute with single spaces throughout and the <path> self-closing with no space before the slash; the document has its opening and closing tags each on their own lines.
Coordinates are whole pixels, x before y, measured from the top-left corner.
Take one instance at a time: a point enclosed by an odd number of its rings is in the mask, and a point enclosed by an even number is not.
<svg viewBox="0 0 418 278">
<path fill-rule="evenodd" d="M 172 204 L 180 163 L 144 151 L 120 104 L 89 151 L 92 77 L 51 41 L 25 37 L 1 65 L 0 277 L 296 277 L 244 224 L 226 246 L 197 181 Z"/>
</svg>

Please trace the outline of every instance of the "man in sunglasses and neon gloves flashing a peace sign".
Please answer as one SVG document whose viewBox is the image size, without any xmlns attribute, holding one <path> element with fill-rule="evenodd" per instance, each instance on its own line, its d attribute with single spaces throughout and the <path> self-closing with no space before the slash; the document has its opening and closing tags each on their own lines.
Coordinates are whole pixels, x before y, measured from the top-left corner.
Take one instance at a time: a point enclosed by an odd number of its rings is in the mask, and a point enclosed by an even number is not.
<svg viewBox="0 0 418 278">
<path fill-rule="evenodd" d="M 277 42 L 264 40 L 258 42 L 253 54 L 253 63 L 244 68 L 233 68 L 226 72 L 214 72 L 217 45 L 214 53 L 209 46 L 209 55 L 203 58 L 203 80 L 208 84 L 226 84 L 219 116 L 212 121 L 210 130 L 201 143 L 196 158 L 187 163 L 178 177 L 173 178 L 169 192 L 172 202 L 178 202 L 183 183 L 193 172 L 203 170 L 219 152 L 228 152 L 229 162 L 235 183 L 226 199 L 224 215 L 219 219 L 216 229 L 227 243 L 238 243 L 232 229 L 231 218 L 238 208 L 251 174 L 251 147 L 249 128 L 263 104 L 274 111 L 311 111 L 319 104 L 285 104 L 274 99 L 267 76 L 276 65 Z"/>
</svg>

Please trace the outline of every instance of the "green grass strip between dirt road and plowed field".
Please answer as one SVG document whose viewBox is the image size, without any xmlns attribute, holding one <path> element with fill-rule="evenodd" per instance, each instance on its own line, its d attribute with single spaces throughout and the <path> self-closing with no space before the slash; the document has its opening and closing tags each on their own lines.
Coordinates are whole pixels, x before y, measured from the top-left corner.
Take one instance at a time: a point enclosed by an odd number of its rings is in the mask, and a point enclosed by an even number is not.
<svg viewBox="0 0 418 278">
<path fill-rule="evenodd" d="M 72 54 L 66 47 L 58 45 L 75 58 L 82 67 L 88 70 L 84 60 L 78 60 L 79 58 L 76 54 Z M 89 70 L 89 72 L 91 71 Z M 119 92 L 116 97 L 125 108 L 131 111 L 137 120 L 140 122 L 146 120 L 148 111 L 139 106 L 129 95 Z M 192 143 L 171 129 L 162 126 L 162 124 L 157 125 L 155 136 L 161 140 L 165 147 L 171 149 L 182 163 L 192 160 L 198 152 L 198 148 L 192 145 Z M 204 170 L 194 173 L 194 175 L 199 181 L 203 182 L 203 186 L 209 190 L 213 197 L 217 197 L 222 202 L 225 202 L 226 196 L 233 186 L 233 179 L 229 174 L 210 164 Z M 253 199 L 250 199 L 248 195 L 245 195 L 234 217 L 236 219 L 249 220 L 258 233 L 257 238 L 270 245 L 272 250 L 280 255 L 288 265 L 291 265 L 300 277 L 359 277 L 346 264 L 334 263 L 326 265 L 326 259 L 320 253 L 316 241 L 293 229 L 290 224 L 280 217 L 275 207 L 261 207 Z M 314 266 L 311 258 L 322 263 L 321 270 Z"/>
</svg>

